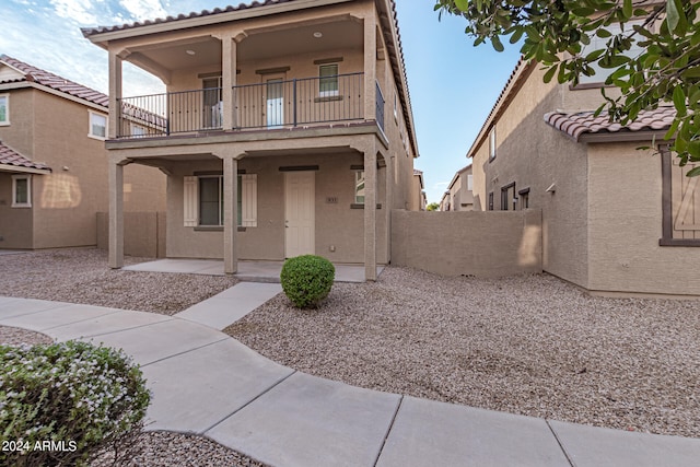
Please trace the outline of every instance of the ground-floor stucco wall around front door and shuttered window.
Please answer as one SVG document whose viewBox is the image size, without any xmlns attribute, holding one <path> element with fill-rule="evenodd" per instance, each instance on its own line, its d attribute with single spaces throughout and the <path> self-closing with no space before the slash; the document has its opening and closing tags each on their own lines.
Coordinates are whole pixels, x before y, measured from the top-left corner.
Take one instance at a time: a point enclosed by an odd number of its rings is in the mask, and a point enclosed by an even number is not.
<svg viewBox="0 0 700 467">
<path fill-rule="evenodd" d="M 238 171 L 257 174 L 257 226 L 237 232 L 238 258 L 284 259 L 284 172 L 280 167 L 318 165 L 315 172 L 316 254 L 336 262 L 364 261 L 364 210 L 354 202 L 354 171 L 363 156 L 354 154 L 289 155 L 249 157 L 238 162 Z M 167 248 L 173 258 L 223 258 L 223 232 L 184 226 L 183 177 L 197 172 L 221 172 L 220 161 L 174 165 L 167 183 Z M 377 171 L 377 199 L 384 198 L 386 170 Z M 330 202 L 328 198 L 335 198 Z M 376 211 L 377 261 L 388 261 L 386 207 Z M 335 252 L 330 250 L 331 245 Z"/>
</svg>

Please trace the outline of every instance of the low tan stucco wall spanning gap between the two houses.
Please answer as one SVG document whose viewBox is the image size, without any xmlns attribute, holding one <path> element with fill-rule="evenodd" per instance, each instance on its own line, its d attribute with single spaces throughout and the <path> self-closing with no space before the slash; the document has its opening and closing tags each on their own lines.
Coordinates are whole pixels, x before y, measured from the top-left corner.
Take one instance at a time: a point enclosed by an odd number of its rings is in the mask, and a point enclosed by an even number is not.
<svg viewBox="0 0 700 467">
<path fill-rule="evenodd" d="M 392 211 L 392 264 L 443 276 L 541 272 L 541 212 Z"/>
</svg>

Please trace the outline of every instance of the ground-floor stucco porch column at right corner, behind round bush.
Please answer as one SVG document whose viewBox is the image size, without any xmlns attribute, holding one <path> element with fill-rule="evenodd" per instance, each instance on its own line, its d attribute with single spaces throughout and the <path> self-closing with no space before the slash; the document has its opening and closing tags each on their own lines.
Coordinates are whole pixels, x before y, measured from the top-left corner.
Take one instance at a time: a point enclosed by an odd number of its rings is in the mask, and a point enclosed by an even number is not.
<svg viewBox="0 0 700 467">
<path fill-rule="evenodd" d="M 376 280 L 376 145 L 364 149 L 364 279 Z"/>
</svg>

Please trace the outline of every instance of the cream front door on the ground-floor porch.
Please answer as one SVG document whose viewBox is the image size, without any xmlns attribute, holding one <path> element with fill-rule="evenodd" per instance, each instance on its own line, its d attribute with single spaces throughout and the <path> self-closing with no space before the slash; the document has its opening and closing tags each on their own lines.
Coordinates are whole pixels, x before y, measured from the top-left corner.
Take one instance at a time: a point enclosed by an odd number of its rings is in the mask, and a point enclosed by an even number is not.
<svg viewBox="0 0 700 467">
<path fill-rule="evenodd" d="M 315 172 L 284 176 L 284 256 L 315 254 Z"/>
</svg>

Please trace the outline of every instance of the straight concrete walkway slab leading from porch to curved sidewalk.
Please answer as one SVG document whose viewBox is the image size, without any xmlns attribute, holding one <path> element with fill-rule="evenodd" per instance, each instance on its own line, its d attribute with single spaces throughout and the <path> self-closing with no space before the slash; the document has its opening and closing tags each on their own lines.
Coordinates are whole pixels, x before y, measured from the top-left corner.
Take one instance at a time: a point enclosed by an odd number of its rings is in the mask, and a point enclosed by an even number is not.
<svg viewBox="0 0 700 467">
<path fill-rule="evenodd" d="M 280 292 L 278 283 L 241 282 L 175 316 L 223 329 Z"/>
</svg>

